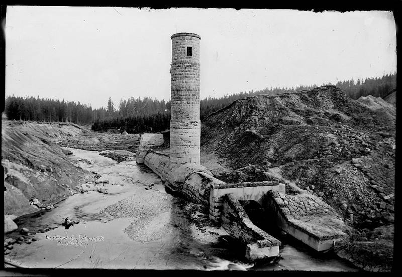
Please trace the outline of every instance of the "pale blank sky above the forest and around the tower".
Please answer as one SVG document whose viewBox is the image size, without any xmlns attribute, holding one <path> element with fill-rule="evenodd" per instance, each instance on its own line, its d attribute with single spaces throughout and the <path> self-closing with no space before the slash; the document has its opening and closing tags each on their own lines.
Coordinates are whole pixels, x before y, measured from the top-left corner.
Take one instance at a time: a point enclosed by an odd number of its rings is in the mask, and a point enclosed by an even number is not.
<svg viewBox="0 0 402 277">
<path fill-rule="evenodd" d="M 396 71 L 391 12 L 8 6 L 6 96 L 167 101 L 176 32 L 201 37 L 201 98 Z"/>
</svg>

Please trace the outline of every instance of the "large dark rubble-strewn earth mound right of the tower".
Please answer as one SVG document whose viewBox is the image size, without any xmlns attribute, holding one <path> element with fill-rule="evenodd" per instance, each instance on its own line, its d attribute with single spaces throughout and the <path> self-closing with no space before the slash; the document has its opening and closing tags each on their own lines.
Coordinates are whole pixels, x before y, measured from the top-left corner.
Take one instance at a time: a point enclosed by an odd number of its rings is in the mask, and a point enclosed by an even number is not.
<svg viewBox="0 0 402 277">
<path fill-rule="evenodd" d="M 362 232 L 394 221 L 395 114 L 382 99 L 353 100 L 336 86 L 251 96 L 203 120 L 201 151 L 226 168 L 217 178 L 279 179 Z"/>
</svg>

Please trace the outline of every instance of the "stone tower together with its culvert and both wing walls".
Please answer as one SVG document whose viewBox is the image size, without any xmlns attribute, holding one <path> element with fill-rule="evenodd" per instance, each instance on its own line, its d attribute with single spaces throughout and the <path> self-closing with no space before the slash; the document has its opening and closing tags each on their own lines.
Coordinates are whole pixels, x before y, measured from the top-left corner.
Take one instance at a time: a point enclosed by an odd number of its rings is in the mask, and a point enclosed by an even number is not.
<svg viewBox="0 0 402 277">
<path fill-rule="evenodd" d="M 285 185 L 278 181 L 227 184 L 200 165 L 200 39 L 192 33 L 171 36 L 169 154 L 154 149 L 163 144 L 163 134 L 144 133 L 140 136 L 137 163 L 160 176 L 172 192 L 209 206 L 210 220 L 245 245 L 245 256 L 250 261 L 278 256 L 281 245 L 251 222 L 241 204 L 250 200 L 271 214 L 270 224 L 317 251 L 330 249 L 346 236 L 346 226 L 325 202 L 303 193 L 290 198 Z"/>
</svg>

